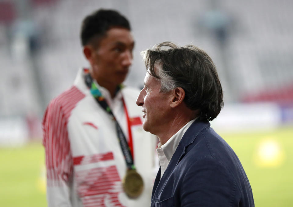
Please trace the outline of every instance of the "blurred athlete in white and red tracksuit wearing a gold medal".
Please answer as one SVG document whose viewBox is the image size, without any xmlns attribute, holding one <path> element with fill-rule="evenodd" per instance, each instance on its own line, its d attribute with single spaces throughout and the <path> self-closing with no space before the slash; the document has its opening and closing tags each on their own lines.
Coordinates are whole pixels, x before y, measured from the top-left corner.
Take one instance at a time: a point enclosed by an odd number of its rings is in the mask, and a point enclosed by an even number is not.
<svg viewBox="0 0 293 207">
<path fill-rule="evenodd" d="M 139 91 L 124 87 L 134 40 L 128 20 L 98 10 L 81 26 L 90 68 L 43 119 L 48 206 L 150 206 L 156 139 L 144 132 Z"/>
</svg>

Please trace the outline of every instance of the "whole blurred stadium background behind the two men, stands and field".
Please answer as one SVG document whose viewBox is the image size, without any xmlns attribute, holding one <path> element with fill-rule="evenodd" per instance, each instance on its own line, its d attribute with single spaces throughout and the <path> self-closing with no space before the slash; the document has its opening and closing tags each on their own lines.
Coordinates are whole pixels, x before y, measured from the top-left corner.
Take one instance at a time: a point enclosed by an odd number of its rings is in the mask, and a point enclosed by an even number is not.
<svg viewBox="0 0 293 207">
<path fill-rule="evenodd" d="M 42 114 L 88 66 L 80 24 L 99 8 L 131 22 L 127 85 L 142 86 L 139 52 L 156 43 L 194 44 L 212 56 L 225 99 L 212 127 L 238 154 L 255 205 L 291 206 L 291 0 L 0 0 L 0 205 L 46 206 Z"/>
</svg>

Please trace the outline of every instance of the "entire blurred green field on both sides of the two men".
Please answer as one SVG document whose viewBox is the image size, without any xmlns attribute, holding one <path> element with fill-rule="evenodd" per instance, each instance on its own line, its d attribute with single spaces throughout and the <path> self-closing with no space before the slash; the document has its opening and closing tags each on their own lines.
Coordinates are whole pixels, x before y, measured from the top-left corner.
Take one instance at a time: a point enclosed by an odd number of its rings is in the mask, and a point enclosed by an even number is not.
<svg viewBox="0 0 293 207">
<path fill-rule="evenodd" d="M 293 203 L 293 128 L 270 132 L 220 134 L 240 158 L 257 207 Z M 44 150 L 41 143 L 0 148 L 0 206 L 46 206 Z"/>
</svg>

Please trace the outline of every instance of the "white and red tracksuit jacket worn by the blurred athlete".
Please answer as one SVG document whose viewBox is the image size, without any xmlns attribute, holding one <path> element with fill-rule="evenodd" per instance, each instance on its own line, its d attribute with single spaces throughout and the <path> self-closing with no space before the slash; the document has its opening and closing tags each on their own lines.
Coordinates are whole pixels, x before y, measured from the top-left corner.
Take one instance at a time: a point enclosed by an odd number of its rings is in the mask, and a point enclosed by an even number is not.
<svg viewBox="0 0 293 207">
<path fill-rule="evenodd" d="M 43 119 L 49 207 L 150 206 L 157 140 L 142 128 L 141 107 L 135 103 L 138 94 L 136 89 L 124 88 L 109 105 L 128 138 L 123 96 L 134 162 L 144 181 L 140 197 L 130 199 L 123 192 L 126 163 L 115 122 L 93 98 L 80 70 L 74 85 L 49 103 Z"/>
</svg>

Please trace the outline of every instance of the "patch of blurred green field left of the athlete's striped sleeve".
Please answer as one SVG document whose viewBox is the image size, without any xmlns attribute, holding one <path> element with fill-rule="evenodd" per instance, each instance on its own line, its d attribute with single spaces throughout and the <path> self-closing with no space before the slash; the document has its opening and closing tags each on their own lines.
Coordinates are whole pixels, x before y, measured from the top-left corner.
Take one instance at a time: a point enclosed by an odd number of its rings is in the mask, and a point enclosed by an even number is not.
<svg viewBox="0 0 293 207">
<path fill-rule="evenodd" d="M 0 149 L 0 206 L 47 206 L 41 143 Z"/>
</svg>

